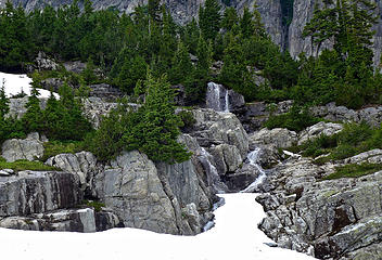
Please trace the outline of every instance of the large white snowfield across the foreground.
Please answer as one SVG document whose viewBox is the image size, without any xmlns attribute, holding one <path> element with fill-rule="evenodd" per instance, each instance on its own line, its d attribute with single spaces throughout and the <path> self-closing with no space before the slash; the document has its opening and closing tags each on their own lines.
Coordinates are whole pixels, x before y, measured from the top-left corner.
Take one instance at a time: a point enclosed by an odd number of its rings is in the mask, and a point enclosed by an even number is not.
<svg viewBox="0 0 382 260">
<path fill-rule="evenodd" d="M 257 223 L 265 213 L 256 194 L 224 194 L 216 225 L 196 236 L 157 234 L 137 229 L 99 233 L 36 232 L 0 229 L 1 256 L 28 260 L 300 260 L 306 255 L 273 248 Z"/>
</svg>

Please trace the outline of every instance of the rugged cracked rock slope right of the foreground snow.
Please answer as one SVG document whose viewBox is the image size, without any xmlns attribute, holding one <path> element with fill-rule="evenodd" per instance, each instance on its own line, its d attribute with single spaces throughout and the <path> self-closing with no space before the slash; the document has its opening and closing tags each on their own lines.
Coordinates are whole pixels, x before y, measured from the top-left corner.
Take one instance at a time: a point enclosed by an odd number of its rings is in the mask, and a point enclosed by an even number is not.
<svg viewBox="0 0 382 260">
<path fill-rule="evenodd" d="M 369 157 L 380 160 L 381 152 L 368 152 L 342 164 L 362 162 Z M 382 172 L 320 181 L 331 172 L 333 165 L 319 167 L 305 158 L 278 165 L 269 178 L 271 192 L 257 198 L 267 213 L 259 227 L 279 246 L 319 259 L 379 259 Z"/>
</svg>

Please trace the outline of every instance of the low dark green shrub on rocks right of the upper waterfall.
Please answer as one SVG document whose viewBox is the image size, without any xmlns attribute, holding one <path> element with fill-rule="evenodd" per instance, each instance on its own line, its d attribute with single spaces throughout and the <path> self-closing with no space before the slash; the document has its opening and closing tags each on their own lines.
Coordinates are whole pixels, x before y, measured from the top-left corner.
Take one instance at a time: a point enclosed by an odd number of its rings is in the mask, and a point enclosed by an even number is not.
<svg viewBox="0 0 382 260">
<path fill-rule="evenodd" d="M 293 131 L 302 131 L 319 121 L 320 119 L 311 116 L 306 107 L 294 105 L 289 113 L 270 116 L 264 126 L 268 129 L 288 128 Z"/>
</svg>

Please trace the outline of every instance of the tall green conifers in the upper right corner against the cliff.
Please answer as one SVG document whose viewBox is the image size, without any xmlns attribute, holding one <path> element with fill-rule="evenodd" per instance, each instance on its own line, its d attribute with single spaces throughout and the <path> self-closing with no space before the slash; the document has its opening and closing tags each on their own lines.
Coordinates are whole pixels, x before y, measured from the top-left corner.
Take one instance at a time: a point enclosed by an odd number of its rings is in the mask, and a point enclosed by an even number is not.
<svg viewBox="0 0 382 260">
<path fill-rule="evenodd" d="M 322 52 L 317 61 L 303 68 L 295 90 L 304 95 L 298 96 L 301 102 L 306 103 L 304 98 L 310 96 L 309 102 L 316 104 L 335 101 L 339 105 L 359 108 L 373 100 L 377 82 L 370 48 L 372 26 L 377 23 L 375 8 L 368 0 L 335 3 L 329 0 L 322 10 L 316 5 L 303 35 L 311 37 L 316 54 L 328 39 L 334 39 L 334 50 Z"/>
</svg>

